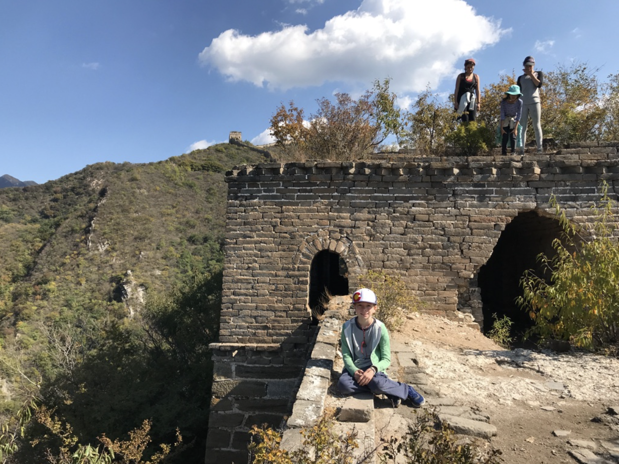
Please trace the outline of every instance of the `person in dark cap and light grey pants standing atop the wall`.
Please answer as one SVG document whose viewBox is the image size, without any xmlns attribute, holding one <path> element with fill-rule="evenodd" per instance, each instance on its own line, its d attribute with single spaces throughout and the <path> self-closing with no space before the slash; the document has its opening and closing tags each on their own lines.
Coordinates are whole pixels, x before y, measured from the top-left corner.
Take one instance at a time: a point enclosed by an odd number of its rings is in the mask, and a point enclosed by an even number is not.
<svg viewBox="0 0 619 464">
<path fill-rule="evenodd" d="M 529 114 L 535 132 L 535 143 L 537 144 L 537 153 L 542 153 L 542 103 L 540 103 L 540 87 L 542 87 L 543 74 L 542 71 L 535 71 L 535 58 L 527 56 L 522 62 L 524 65 L 524 74 L 518 77 L 518 86 L 522 92 L 522 118 L 520 124 L 522 126 L 522 149 L 524 153 L 524 145 L 527 141 L 527 122 Z"/>
</svg>

